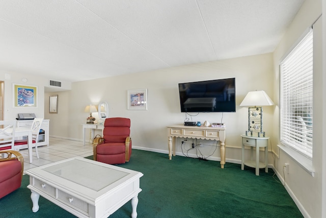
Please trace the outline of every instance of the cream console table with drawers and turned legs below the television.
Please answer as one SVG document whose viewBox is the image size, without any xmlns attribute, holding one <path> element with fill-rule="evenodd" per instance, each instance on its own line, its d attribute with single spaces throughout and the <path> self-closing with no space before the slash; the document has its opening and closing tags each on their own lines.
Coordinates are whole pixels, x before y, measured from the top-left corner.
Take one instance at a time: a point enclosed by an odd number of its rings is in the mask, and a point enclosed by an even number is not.
<svg viewBox="0 0 326 218">
<path fill-rule="evenodd" d="M 175 141 L 177 137 L 215 140 L 220 141 L 221 168 L 223 169 L 225 164 L 225 131 L 226 128 L 183 125 L 168 126 L 169 159 L 172 159 L 172 151 L 173 156 L 175 156 Z"/>
</svg>

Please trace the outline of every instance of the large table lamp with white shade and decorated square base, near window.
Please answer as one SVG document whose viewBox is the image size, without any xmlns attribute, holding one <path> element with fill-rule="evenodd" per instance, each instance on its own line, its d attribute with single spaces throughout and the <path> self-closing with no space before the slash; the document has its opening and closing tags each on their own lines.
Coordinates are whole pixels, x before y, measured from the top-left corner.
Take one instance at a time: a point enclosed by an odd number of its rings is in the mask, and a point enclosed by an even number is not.
<svg viewBox="0 0 326 218">
<path fill-rule="evenodd" d="M 263 109 L 262 106 L 274 105 L 274 102 L 269 98 L 265 91 L 251 91 L 248 92 L 246 97 L 242 100 L 240 106 L 248 107 L 248 131 L 246 135 L 250 132 L 258 132 L 258 137 L 265 136 L 263 132 Z"/>
</svg>

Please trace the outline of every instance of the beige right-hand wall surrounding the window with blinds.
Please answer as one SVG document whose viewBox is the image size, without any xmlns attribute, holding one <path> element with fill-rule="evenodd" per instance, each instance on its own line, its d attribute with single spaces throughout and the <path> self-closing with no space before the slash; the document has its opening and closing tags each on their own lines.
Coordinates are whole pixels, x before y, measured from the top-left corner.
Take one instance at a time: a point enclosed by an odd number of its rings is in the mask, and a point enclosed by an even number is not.
<svg viewBox="0 0 326 218">
<path fill-rule="evenodd" d="M 274 113 L 274 129 L 273 141 L 275 146 L 273 149 L 279 152 L 279 158 L 276 158 L 275 168 L 281 180 L 285 180 L 286 189 L 297 203 L 305 217 L 325 217 L 322 216 L 322 150 L 325 149 L 322 141 L 324 140 L 322 130 L 322 119 L 324 115 L 322 102 L 320 99 L 325 99 L 322 92 L 322 23 L 321 18 L 321 1 L 306 0 L 301 10 L 297 13 L 295 19 L 285 33 L 282 41 L 274 52 L 274 100 L 275 100 L 275 113 Z M 318 20 L 317 20 L 318 19 Z M 314 31 L 314 136 L 313 136 L 313 168 L 315 170 L 314 177 L 305 171 L 296 161 L 282 150 L 276 147 L 279 139 L 279 64 L 291 48 L 301 39 L 303 34 L 308 28 L 317 20 L 313 26 Z M 316 119 L 317 118 L 317 119 Z M 289 174 L 283 174 L 283 166 L 289 163 Z M 285 176 L 285 178 L 284 178 Z M 323 182 L 325 184 L 325 181 Z M 325 187 L 325 185 L 324 185 Z M 325 214 L 324 214 L 325 215 Z"/>
</svg>

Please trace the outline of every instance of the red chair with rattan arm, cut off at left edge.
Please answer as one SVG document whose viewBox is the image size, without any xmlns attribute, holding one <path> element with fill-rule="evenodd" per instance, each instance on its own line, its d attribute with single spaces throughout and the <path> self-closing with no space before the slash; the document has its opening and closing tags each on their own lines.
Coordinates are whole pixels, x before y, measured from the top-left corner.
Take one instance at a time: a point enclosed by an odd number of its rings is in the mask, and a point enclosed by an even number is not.
<svg viewBox="0 0 326 218">
<path fill-rule="evenodd" d="M 18 151 L 0 151 L 0 198 L 21 185 L 24 159 Z"/>
</svg>

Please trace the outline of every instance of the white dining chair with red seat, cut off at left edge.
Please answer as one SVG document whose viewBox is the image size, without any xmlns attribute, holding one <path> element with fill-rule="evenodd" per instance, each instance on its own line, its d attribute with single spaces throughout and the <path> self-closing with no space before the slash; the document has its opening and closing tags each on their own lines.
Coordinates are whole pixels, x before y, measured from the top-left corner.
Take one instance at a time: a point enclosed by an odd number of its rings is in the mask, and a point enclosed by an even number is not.
<svg viewBox="0 0 326 218">
<path fill-rule="evenodd" d="M 15 120 L 0 121 L 0 150 L 14 150 Z"/>
</svg>

